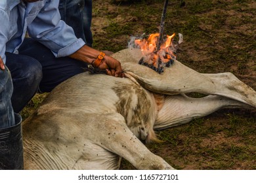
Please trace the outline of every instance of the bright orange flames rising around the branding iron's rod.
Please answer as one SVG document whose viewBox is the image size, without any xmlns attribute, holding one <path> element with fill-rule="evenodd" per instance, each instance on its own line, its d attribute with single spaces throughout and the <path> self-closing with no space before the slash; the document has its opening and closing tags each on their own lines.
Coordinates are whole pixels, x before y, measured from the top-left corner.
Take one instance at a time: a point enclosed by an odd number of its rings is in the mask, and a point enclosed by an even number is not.
<svg viewBox="0 0 256 183">
<path fill-rule="evenodd" d="M 162 63 L 167 63 L 171 58 L 176 58 L 173 54 L 172 42 L 175 37 L 175 33 L 173 35 L 167 35 L 166 40 L 161 44 L 160 49 L 158 50 L 158 39 L 159 33 L 150 34 L 148 39 L 136 39 L 135 45 L 139 46 L 142 54 L 147 61 L 148 64 L 154 65 L 158 67 L 158 59 L 161 59 Z"/>
</svg>

